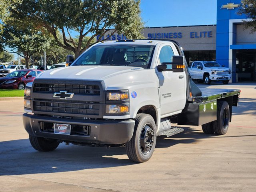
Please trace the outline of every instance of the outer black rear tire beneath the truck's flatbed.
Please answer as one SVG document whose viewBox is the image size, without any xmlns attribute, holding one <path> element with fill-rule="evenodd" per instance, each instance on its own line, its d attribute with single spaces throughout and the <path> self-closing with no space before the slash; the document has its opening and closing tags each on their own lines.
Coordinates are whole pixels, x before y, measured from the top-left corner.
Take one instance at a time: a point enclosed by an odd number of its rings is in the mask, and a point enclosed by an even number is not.
<svg viewBox="0 0 256 192">
<path fill-rule="evenodd" d="M 228 126 L 230 121 L 230 110 L 228 102 L 217 102 L 217 120 L 212 122 L 213 130 L 215 134 L 224 135 L 228 132 Z"/>
</svg>

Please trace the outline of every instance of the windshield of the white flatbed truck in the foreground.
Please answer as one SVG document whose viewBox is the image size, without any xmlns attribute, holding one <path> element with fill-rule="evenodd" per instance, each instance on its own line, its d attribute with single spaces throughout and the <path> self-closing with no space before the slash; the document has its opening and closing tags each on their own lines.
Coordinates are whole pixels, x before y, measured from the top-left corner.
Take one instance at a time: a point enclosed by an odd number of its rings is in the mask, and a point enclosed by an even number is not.
<svg viewBox="0 0 256 192">
<path fill-rule="evenodd" d="M 108 45 L 94 46 L 85 52 L 72 66 L 119 65 L 150 68 L 154 46 Z"/>
</svg>

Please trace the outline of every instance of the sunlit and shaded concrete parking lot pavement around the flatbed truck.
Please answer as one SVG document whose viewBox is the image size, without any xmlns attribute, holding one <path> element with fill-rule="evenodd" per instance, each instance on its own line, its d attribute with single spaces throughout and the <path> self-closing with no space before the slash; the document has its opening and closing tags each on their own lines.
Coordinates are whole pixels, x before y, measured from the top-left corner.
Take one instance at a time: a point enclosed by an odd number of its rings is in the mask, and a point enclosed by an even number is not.
<svg viewBox="0 0 256 192">
<path fill-rule="evenodd" d="M 0 101 L 0 191 L 256 191 L 256 84 L 239 88 L 228 133 L 203 134 L 200 126 L 158 139 L 152 158 L 130 162 L 125 148 L 60 144 L 37 152 L 23 128 L 23 100 Z"/>
</svg>

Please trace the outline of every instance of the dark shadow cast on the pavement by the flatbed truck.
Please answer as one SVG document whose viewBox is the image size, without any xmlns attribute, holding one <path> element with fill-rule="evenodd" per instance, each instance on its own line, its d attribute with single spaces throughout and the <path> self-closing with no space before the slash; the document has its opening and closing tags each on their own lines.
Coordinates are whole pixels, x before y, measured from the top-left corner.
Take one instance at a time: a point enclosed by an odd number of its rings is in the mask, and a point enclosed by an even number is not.
<svg viewBox="0 0 256 192">
<path fill-rule="evenodd" d="M 186 128 L 184 133 L 172 137 L 180 140 L 158 139 L 156 150 L 212 136 Z M 136 164 L 128 159 L 124 147 L 106 149 L 62 143 L 52 152 L 38 152 L 28 139 L 22 139 L 0 142 L 0 149 L 0 175 L 68 172 Z"/>
</svg>

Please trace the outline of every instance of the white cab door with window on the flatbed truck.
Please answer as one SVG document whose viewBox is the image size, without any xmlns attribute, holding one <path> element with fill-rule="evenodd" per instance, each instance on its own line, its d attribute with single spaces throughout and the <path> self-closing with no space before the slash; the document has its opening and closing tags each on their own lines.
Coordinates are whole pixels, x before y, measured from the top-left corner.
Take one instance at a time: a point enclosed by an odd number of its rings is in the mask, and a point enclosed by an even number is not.
<svg viewBox="0 0 256 192">
<path fill-rule="evenodd" d="M 172 62 L 172 56 L 178 56 L 178 51 L 171 45 L 163 44 L 158 52 L 158 65 Z M 156 73 L 160 82 L 161 116 L 169 116 L 181 111 L 186 104 L 186 74 L 185 72 L 162 71 Z"/>
</svg>

